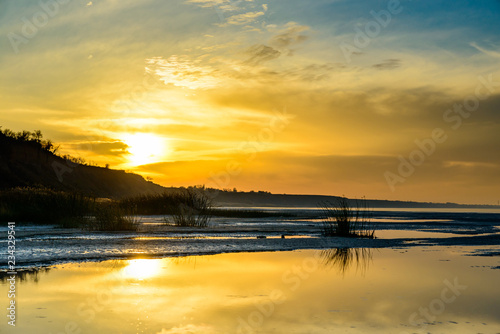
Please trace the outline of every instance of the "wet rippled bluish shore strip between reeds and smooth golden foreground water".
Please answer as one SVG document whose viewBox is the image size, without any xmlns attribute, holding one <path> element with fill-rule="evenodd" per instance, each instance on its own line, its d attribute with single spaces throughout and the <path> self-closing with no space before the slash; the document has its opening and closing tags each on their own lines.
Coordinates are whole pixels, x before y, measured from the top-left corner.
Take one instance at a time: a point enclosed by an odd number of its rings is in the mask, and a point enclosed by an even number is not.
<svg viewBox="0 0 500 334">
<path fill-rule="evenodd" d="M 318 219 L 313 218 L 214 218 L 209 228 L 168 226 L 161 223 L 161 216 L 143 216 L 141 220 L 137 232 L 88 232 L 20 224 L 16 230 L 16 267 L 22 270 L 113 259 L 334 248 L 496 246 L 496 249 L 474 255 L 500 254 L 500 223 L 495 220 L 479 220 L 472 224 L 439 219 L 386 219 L 374 222 L 376 230 L 387 235 L 375 239 L 323 237 Z M 390 237 L 391 233 L 400 237 Z M 0 266 L 0 272 L 6 269 L 5 265 Z"/>
</svg>

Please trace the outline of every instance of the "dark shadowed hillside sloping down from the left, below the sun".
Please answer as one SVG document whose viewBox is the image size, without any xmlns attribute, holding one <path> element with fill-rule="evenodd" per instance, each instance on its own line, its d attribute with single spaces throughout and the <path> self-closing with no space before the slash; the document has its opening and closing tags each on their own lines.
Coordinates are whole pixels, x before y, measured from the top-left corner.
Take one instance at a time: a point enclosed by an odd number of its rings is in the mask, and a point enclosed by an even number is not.
<svg viewBox="0 0 500 334">
<path fill-rule="evenodd" d="M 0 189 L 45 187 L 113 199 L 165 191 L 140 175 L 84 165 L 56 150 L 39 131 L 0 131 Z"/>
</svg>

